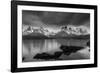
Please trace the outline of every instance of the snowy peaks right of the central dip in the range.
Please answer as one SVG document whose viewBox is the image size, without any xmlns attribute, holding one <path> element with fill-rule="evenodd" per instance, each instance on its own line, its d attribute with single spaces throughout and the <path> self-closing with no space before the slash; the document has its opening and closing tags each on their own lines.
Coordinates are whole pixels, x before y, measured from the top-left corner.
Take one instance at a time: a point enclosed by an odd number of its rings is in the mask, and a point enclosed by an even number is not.
<svg viewBox="0 0 100 73">
<path fill-rule="evenodd" d="M 62 26 L 61 31 L 65 31 L 68 34 L 75 34 L 75 35 L 86 35 L 89 34 L 90 32 L 86 26 L 73 26 L 73 25 Z"/>
</svg>

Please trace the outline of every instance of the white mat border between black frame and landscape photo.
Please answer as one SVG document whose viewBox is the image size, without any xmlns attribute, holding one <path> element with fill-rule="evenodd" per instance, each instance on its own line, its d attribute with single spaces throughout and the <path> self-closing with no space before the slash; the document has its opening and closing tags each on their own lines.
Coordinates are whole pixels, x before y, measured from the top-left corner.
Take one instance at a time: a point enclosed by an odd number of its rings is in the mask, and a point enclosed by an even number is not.
<svg viewBox="0 0 100 73">
<path fill-rule="evenodd" d="M 18 28 L 17 28 L 17 66 L 18 68 L 27 67 L 43 67 L 43 66 L 60 66 L 60 65 L 78 65 L 78 64 L 93 64 L 94 63 L 94 10 L 92 9 L 77 9 L 77 8 L 58 8 L 58 7 L 44 7 L 44 6 L 25 6 L 18 5 Z M 58 11 L 58 12 L 81 12 L 90 13 L 90 59 L 88 60 L 66 60 L 64 61 L 45 61 L 45 62 L 22 62 L 22 10 L 35 10 L 35 11 Z"/>
</svg>

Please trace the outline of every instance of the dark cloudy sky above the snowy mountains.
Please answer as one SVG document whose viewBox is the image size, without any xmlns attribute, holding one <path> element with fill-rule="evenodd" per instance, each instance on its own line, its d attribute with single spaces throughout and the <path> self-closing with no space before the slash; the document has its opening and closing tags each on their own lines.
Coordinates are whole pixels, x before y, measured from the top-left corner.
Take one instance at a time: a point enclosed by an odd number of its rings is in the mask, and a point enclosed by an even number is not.
<svg viewBox="0 0 100 73">
<path fill-rule="evenodd" d="M 22 23 L 45 26 L 62 25 L 83 25 L 90 22 L 90 14 L 68 13 L 68 12 L 48 12 L 48 11 L 25 11 L 22 13 Z M 90 24 L 88 24 L 89 26 Z"/>
</svg>

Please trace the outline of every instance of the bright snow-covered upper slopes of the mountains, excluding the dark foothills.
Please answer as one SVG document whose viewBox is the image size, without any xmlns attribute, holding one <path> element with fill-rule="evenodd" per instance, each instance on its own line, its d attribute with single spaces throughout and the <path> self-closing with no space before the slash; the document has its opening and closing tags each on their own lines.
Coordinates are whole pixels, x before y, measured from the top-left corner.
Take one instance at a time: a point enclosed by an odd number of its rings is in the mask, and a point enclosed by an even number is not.
<svg viewBox="0 0 100 73">
<path fill-rule="evenodd" d="M 87 35 L 90 33 L 89 29 L 86 26 L 74 26 L 74 25 L 67 25 L 67 26 L 61 26 L 59 32 L 65 32 L 67 35 Z M 23 27 L 23 35 L 28 35 L 30 33 L 41 33 L 47 37 L 54 36 L 59 32 L 50 31 L 47 28 L 44 27 L 33 27 L 33 26 L 27 26 Z"/>
</svg>

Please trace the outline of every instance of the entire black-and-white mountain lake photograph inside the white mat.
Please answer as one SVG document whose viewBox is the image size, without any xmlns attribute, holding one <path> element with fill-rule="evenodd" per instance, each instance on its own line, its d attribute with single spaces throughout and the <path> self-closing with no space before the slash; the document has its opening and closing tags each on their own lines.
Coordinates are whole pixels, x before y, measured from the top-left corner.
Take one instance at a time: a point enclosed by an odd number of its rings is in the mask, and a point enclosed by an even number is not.
<svg viewBox="0 0 100 73">
<path fill-rule="evenodd" d="M 22 61 L 90 59 L 90 14 L 22 11 Z"/>
</svg>

